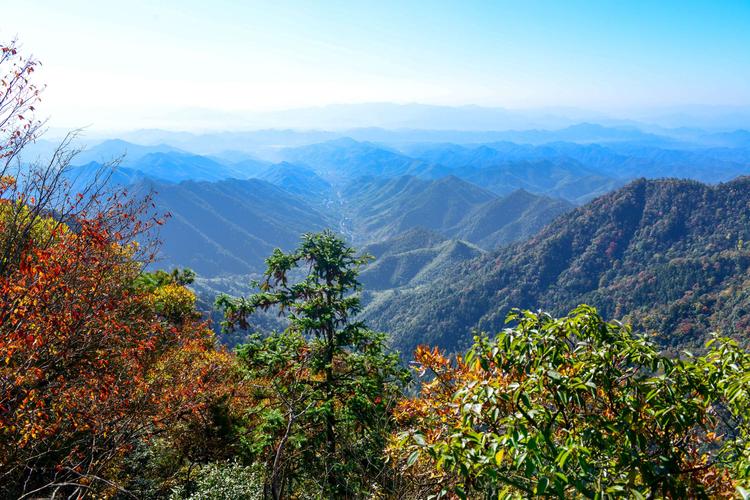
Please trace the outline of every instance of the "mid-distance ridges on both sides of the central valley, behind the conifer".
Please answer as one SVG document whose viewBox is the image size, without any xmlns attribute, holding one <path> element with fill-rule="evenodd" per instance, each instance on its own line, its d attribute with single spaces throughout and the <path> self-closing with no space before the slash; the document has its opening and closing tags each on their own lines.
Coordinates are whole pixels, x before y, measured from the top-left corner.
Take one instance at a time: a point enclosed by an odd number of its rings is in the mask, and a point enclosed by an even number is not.
<svg viewBox="0 0 750 500">
<path fill-rule="evenodd" d="M 324 228 L 337 229 L 361 244 L 398 238 L 418 228 L 439 233 L 439 243 L 466 240 L 459 245 L 466 251 L 447 254 L 447 247 L 419 247 L 425 258 L 431 256 L 425 266 L 441 263 L 420 274 L 417 261 L 410 261 L 410 278 L 426 279 L 459 257 L 476 256 L 481 250 L 475 245 L 494 249 L 526 238 L 571 207 L 525 192 L 500 198 L 455 177 L 361 179 L 338 197 L 330 184 L 305 167 L 271 165 L 261 177 L 267 180 L 143 180 L 138 188 L 154 191 L 157 210 L 171 215 L 160 233 L 161 265 L 190 267 L 202 278 L 253 274 L 274 248 L 291 248 L 301 234 Z M 408 282 L 393 272 L 378 279 L 398 286 Z"/>
</svg>

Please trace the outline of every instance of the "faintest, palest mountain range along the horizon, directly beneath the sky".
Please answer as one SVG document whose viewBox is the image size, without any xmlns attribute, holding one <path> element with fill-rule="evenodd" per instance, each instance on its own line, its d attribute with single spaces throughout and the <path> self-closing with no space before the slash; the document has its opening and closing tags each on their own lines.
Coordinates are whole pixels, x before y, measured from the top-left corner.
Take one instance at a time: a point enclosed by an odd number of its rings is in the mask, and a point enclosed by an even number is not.
<svg viewBox="0 0 750 500">
<path fill-rule="evenodd" d="M 390 130 L 527 130 L 559 129 L 581 122 L 641 129 L 703 127 L 737 129 L 750 127 L 747 107 L 654 108 L 633 111 L 625 116 L 576 109 L 547 107 L 507 109 L 477 105 L 440 106 L 420 103 L 389 102 L 331 104 L 281 111 L 218 111 L 182 109 L 154 116 L 151 123 L 168 129 L 199 128 L 247 130 L 258 128 L 300 130 L 351 130 L 378 127 Z M 143 136 L 140 136 L 143 137 Z"/>
</svg>

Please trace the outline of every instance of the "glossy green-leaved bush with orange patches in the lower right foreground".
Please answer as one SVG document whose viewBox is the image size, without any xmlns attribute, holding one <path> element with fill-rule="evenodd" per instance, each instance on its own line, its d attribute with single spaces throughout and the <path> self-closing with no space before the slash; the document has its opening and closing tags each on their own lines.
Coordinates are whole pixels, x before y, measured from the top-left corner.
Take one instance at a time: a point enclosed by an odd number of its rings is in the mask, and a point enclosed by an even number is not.
<svg viewBox="0 0 750 500">
<path fill-rule="evenodd" d="M 715 338 L 670 359 L 588 306 L 516 311 L 401 402 L 392 459 L 410 495 L 734 497 L 750 478 L 750 355 Z M 408 479 L 408 480 L 407 480 Z"/>
</svg>

